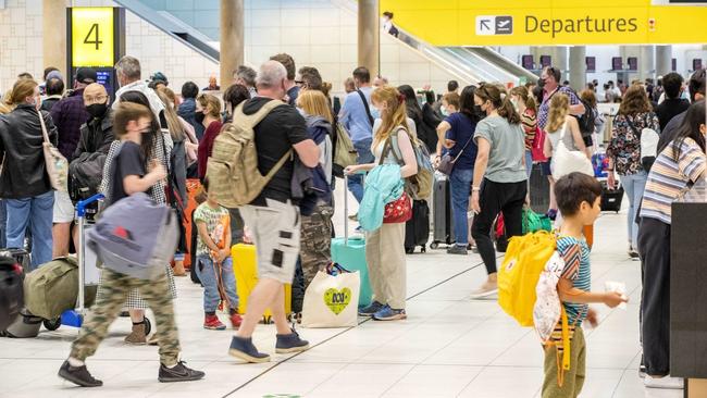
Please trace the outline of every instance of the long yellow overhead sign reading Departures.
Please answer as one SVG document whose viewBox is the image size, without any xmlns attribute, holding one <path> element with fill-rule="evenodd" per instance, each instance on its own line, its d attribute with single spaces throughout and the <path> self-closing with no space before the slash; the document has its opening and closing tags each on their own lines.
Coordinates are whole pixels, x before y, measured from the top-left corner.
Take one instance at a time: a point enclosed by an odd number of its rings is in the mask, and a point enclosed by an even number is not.
<svg viewBox="0 0 707 398">
<path fill-rule="evenodd" d="M 381 0 L 435 46 L 705 43 L 707 7 L 650 0 Z"/>
</svg>

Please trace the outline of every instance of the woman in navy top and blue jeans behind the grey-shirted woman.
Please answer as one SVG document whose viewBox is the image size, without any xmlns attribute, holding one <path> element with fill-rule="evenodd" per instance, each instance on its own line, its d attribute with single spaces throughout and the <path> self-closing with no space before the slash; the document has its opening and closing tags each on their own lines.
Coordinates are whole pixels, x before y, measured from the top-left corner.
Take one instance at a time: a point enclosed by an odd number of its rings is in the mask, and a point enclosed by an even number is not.
<svg viewBox="0 0 707 398">
<path fill-rule="evenodd" d="M 442 156 L 442 147 L 449 151 L 456 159 L 455 166 L 449 176 L 451 190 L 451 211 L 455 222 L 455 246 L 447 249 L 449 254 L 467 254 L 469 246 L 469 197 L 471 196 L 471 182 L 474 177 L 474 162 L 476 161 L 477 147 L 473 137 L 476 130 L 479 116 L 474 112 L 474 86 L 467 86 L 461 91 L 459 112 L 448 115 L 437 126 L 437 134 L 443 137 L 442 145 L 437 145 L 437 161 Z"/>
</svg>

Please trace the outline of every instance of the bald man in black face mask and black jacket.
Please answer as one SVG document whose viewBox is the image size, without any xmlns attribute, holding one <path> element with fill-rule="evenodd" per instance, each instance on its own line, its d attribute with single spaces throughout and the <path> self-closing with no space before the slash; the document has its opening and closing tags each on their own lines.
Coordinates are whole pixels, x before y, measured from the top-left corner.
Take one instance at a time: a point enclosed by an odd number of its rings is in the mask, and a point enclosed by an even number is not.
<svg viewBox="0 0 707 398">
<path fill-rule="evenodd" d="M 72 201 L 88 199 L 97 194 L 103 175 L 103 165 L 113 135 L 113 111 L 110 97 L 98 83 L 84 90 L 84 103 L 90 117 L 80 126 L 80 138 L 69 165 L 69 192 Z"/>
</svg>

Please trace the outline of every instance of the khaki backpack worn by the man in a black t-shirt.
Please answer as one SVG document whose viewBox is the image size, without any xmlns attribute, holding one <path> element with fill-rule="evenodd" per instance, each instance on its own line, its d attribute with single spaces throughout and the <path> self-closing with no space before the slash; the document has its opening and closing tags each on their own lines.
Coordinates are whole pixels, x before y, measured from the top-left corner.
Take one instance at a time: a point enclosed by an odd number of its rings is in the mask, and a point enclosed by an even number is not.
<svg viewBox="0 0 707 398">
<path fill-rule="evenodd" d="M 272 100 L 251 115 L 243 112 L 244 103 L 234 111 L 231 127 L 213 141 L 207 165 L 209 190 L 215 192 L 221 206 L 231 209 L 252 202 L 293 154 L 293 150 L 288 150 L 266 175 L 260 174 L 255 127 L 272 110 L 285 103 Z"/>
</svg>

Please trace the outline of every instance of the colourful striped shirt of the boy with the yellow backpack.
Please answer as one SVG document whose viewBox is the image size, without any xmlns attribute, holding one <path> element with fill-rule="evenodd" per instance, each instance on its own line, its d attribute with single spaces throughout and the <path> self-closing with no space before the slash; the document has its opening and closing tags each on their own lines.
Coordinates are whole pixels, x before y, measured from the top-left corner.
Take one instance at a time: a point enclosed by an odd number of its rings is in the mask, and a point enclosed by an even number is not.
<svg viewBox="0 0 707 398">
<path fill-rule="evenodd" d="M 572 281 L 573 287 L 580 290 L 592 289 L 592 270 L 590 268 L 590 247 L 585 240 L 571 236 L 557 237 L 557 252 L 565 261 L 565 270 L 560 277 Z M 581 326 L 588 311 L 587 304 L 562 301 L 570 326 Z M 576 322 L 576 323 L 575 323 Z"/>
</svg>

